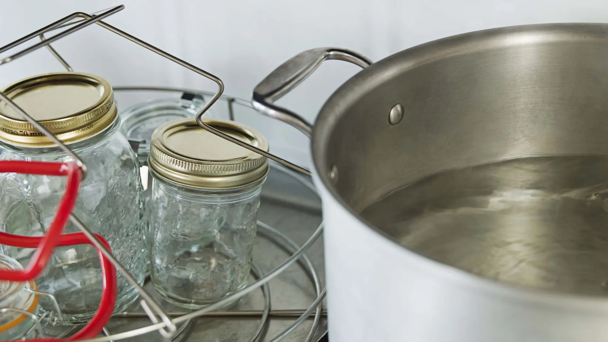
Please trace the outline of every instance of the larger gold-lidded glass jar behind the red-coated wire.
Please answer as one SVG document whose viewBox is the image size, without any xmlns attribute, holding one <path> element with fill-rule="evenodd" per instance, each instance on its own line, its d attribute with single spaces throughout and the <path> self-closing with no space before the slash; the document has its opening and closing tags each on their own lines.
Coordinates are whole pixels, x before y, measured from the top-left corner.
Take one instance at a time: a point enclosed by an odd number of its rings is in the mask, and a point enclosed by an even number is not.
<svg viewBox="0 0 608 342">
<path fill-rule="evenodd" d="M 38 75 L 6 89 L 29 115 L 68 143 L 87 166 L 74 207 L 94 233 L 104 236 L 116 258 L 143 283 L 148 245 L 142 208 L 139 165 L 118 131 L 112 88 L 100 77 L 77 72 Z M 67 154 L 0 101 L 0 159 L 66 161 Z M 64 177 L 0 174 L 0 230 L 41 236 L 52 221 L 65 187 Z M 68 222 L 64 233 L 78 230 Z M 27 264 L 33 249 L 6 247 L 5 253 Z M 55 249 L 36 279 L 38 287 L 57 298 L 66 323 L 82 323 L 94 315 L 102 292 L 102 273 L 92 245 Z M 137 292 L 119 275 L 116 310 L 124 310 Z M 41 309 L 52 303 L 40 299 Z"/>
</svg>

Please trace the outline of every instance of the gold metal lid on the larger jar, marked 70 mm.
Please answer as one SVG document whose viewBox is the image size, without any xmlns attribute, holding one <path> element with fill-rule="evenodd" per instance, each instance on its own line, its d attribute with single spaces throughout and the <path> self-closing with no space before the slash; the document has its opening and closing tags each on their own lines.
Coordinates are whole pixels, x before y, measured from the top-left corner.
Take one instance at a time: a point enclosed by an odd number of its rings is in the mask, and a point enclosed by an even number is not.
<svg viewBox="0 0 608 342">
<path fill-rule="evenodd" d="M 103 131 L 117 117 L 112 87 L 95 75 L 81 72 L 36 75 L 2 91 L 66 143 Z M 5 101 L 0 101 L 0 139 L 19 146 L 53 145 Z"/>
</svg>

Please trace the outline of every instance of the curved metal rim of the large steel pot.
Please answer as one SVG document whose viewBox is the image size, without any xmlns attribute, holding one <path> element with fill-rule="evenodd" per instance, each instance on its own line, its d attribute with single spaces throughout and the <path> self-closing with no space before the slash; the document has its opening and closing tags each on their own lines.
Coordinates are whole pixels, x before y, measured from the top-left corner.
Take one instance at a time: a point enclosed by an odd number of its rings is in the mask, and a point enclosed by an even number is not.
<svg viewBox="0 0 608 342">
<path fill-rule="evenodd" d="M 574 293 L 551 292 L 516 286 L 493 281 L 482 276 L 461 270 L 460 268 L 444 264 L 420 255 L 395 242 L 389 235 L 375 225 L 368 222 L 358 211 L 348 205 L 330 179 L 332 165 L 326 161 L 324 146 L 328 144 L 331 132 L 337 125 L 342 114 L 349 111 L 358 98 L 367 94 L 385 80 L 400 74 L 405 70 L 413 69 L 446 56 L 455 56 L 473 51 L 492 49 L 505 46 L 524 46 L 539 43 L 554 43 L 557 41 L 589 41 L 590 39 L 603 40 L 608 43 L 608 24 L 606 23 L 552 23 L 530 24 L 520 26 L 499 27 L 496 29 L 479 30 L 469 33 L 441 38 L 429 43 L 410 47 L 401 52 L 390 55 L 381 61 L 371 64 L 358 74 L 351 77 L 340 86 L 323 104 L 317 116 L 311 137 L 313 156 L 314 179 L 317 187 L 330 194 L 340 207 L 359 221 L 368 230 L 378 236 L 392 247 L 397 247 L 407 253 L 408 258 L 416 258 L 426 271 L 435 276 L 447 278 L 457 282 L 460 286 L 473 286 L 473 290 L 480 290 L 491 295 L 508 296 L 516 300 L 534 301 L 547 306 L 568 306 L 570 309 L 598 310 L 605 312 L 608 309 L 608 297 L 598 295 L 577 295 Z M 365 84 L 365 86 L 362 86 Z"/>
</svg>

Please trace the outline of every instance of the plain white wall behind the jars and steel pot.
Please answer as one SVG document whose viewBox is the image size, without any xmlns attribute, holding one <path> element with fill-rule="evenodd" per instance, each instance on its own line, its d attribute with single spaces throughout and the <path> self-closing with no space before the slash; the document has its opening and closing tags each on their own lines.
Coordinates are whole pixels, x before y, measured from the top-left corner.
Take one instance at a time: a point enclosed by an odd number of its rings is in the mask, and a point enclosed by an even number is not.
<svg viewBox="0 0 608 342">
<path fill-rule="evenodd" d="M 608 21 L 606 0 L 0 0 L 0 44 L 69 13 L 91 13 L 120 2 L 126 9 L 107 22 L 217 75 L 226 84 L 225 94 L 247 100 L 272 69 L 312 47 L 347 47 L 377 61 L 472 30 Z M 98 74 L 113 85 L 214 89 L 212 82 L 101 27 L 88 27 L 55 48 L 75 70 Z M 61 69 L 41 49 L 0 66 L 0 84 Z M 351 64 L 325 63 L 280 103 L 313 120 L 331 92 L 357 71 Z M 256 115 L 237 118 L 266 134 L 271 151 L 308 164 L 308 142 L 295 129 Z"/>
</svg>

